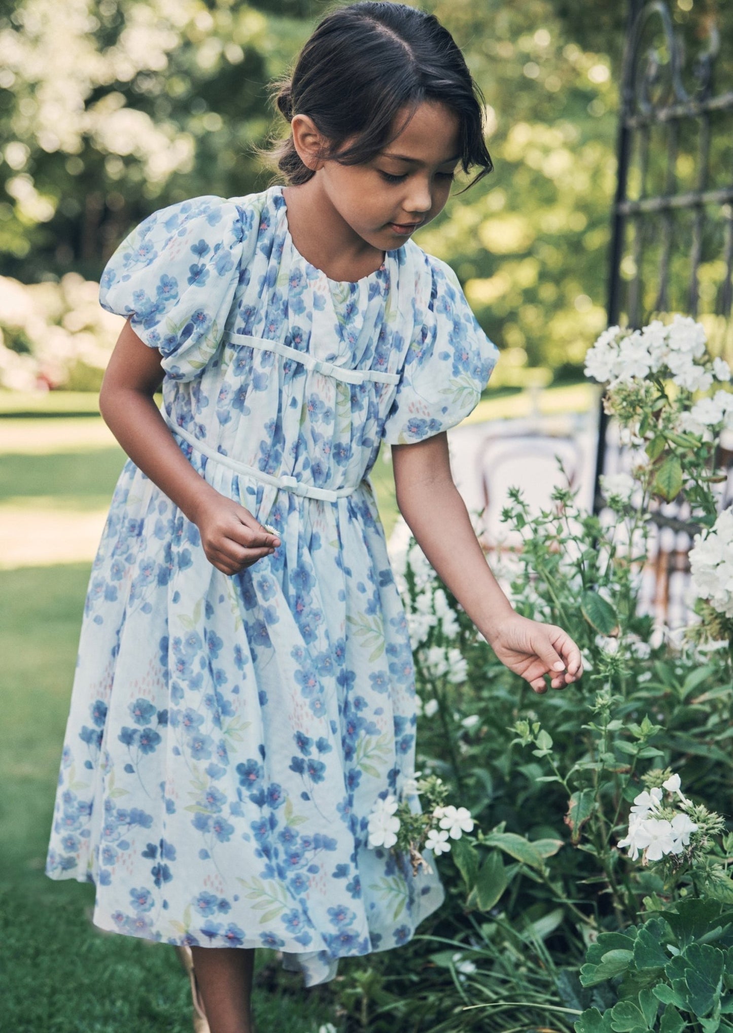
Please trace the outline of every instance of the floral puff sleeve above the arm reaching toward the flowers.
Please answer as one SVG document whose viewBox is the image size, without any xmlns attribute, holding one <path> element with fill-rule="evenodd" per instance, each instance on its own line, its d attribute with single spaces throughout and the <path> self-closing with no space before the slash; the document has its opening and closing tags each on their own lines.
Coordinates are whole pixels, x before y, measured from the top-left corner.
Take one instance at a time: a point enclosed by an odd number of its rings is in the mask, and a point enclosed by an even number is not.
<svg viewBox="0 0 733 1033">
<path fill-rule="evenodd" d="M 425 259 L 429 302 L 385 419 L 388 444 L 411 444 L 460 422 L 476 408 L 498 358 L 451 267 L 434 255 Z"/>
</svg>

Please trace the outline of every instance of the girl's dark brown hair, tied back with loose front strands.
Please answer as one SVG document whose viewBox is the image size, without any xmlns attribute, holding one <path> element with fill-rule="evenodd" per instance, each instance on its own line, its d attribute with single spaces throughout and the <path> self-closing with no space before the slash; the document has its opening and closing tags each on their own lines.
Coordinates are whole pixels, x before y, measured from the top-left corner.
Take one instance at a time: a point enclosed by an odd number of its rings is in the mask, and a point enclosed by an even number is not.
<svg viewBox="0 0 733 1033">
<path fill-rule="evenodd" d="M 398 135 L 406 122 L 390 130 L 401 108 L 408 108 L 409 118 L 423 101 L 439 101 L 460 120 L 463 171 L 481 166 L 468 186 L 493 169 L 484 142 L 484 96 L 463 55 L 433 14 L 406 4 L 362 0 L 327 14 L 293 74 L 273 83 L 271 94 L 288 122 L 296 114 L 311 118 L 329 142 L 323 156 L 344 165 L 369 161 Z M 349 136 L 356 136 L 353 145 L 340 150 Z M 257 153 L 288 184 L 314 175 L 301 161 L 293 134 L 269 144 Z"/>
</svg>

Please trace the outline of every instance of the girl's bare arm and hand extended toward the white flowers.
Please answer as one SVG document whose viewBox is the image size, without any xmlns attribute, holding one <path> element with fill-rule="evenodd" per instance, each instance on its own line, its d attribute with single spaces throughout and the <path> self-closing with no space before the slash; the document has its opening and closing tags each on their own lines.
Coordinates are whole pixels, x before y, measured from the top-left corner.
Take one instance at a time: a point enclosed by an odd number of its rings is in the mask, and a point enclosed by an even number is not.
<svg viewBox="0 0 733 1033">
<path fill-rule="evenodd" d="M 492 574 L 451 474 L 446 432 L 392 445 L 397 505 L 433 569 L 498 659 L 536 692 L 564 688 L 583 674 L 580 650 L 554 624 L 513 608 Z M 559 671 L 559 672 L 558 672 Z"/>
</svg>

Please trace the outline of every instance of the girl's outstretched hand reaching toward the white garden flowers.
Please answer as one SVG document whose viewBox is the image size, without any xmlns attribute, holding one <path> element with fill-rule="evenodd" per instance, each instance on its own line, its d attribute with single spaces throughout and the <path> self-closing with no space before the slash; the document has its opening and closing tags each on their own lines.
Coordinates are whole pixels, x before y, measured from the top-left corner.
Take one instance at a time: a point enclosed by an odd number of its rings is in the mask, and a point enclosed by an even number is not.
<svg viewBox="0 0 733 1033">
<path fill-rule="evenodd" d="M 583 674 L 580 650 L 554 624 L 530 621 L 515 613 L 496 627 L 489 641 L 501 663 L 526 679 L 536 692 L 547 692 L 545 675 L 550 675 L 553 689 L 563 689 Z"/>
</svg>

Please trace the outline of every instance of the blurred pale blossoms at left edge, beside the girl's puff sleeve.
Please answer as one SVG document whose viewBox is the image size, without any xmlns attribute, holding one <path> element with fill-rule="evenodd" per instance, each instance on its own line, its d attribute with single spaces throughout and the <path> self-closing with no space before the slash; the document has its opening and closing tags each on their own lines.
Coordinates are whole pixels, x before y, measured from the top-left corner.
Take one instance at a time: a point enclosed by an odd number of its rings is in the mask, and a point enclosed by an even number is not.
<svg viewBox="0 0 733 1033">
<path fill-rule="evenodd" d="M 0 276 L 0 386 L 62 386 L 77 363 L 104 369 L 124 324 L 101 308 L 99 284 L 78 273 L 59 283 L 23 284 Z M 7 347 L 20 337 L 30 351 Z"/>
</svg>

